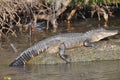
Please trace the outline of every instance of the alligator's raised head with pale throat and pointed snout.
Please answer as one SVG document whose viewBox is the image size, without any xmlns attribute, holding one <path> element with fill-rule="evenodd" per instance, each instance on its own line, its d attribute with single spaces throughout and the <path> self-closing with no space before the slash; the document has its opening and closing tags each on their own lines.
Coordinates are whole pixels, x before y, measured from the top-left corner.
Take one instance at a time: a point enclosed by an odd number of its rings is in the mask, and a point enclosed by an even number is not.
<svg viewBox="0 0 120 80">
<path fill-rule="evenodd" d="M 85 33 L 85 36 L 91 41 L 96 42 L 109 36 L 118 34 L 118 30 L 106 30 L 104 28 L 91 30 Z"/>
</svg>

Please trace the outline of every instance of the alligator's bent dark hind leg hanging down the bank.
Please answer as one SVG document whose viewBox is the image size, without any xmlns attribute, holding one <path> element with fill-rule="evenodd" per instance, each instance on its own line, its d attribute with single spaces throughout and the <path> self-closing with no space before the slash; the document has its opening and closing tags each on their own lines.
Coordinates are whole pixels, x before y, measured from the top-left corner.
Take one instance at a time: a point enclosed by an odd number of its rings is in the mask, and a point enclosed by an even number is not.
<svg viewBox="0 0 120 80">
<path fill-rule="evenodd" d="M 66 46 L 64 43 L 62 43 L 60 45 L 60 57 L 65 60 L 67 63 L 69 63 L 71 61 L 70 57 L 68 55 L 65 55 L 65 49 L 66 49 Z"/>
</svg>

